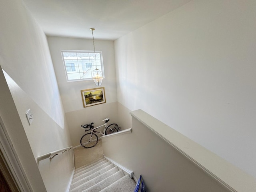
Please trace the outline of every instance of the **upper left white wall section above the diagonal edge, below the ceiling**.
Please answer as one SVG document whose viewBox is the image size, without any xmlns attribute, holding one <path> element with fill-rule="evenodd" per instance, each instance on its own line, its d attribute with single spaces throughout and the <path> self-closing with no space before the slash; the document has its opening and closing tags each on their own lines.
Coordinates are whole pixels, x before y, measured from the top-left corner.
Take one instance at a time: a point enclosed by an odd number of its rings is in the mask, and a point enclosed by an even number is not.
<svg viewBox="0 0 256 192">
<path fill-rule="evenodd" d="M 20 1 L 4 0 L 0 11 L 2 68 L 63 128 L 64 112 L 44 32 Z"/>
</svg>

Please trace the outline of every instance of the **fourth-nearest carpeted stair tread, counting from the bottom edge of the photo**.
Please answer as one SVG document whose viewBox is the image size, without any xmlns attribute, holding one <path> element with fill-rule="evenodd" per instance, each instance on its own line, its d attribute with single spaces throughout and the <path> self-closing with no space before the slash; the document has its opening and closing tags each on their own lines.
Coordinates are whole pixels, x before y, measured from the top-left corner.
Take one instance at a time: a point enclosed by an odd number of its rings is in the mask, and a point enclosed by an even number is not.
<svg viewBox="0 0 256 192">
<path fill-rule="evenodd" d="M 96 171 L 96 172 L 76 181 L 76 182 L 73 182 L 70 186 L 70 190 L 84 184 L 85 182 L 88 182 L 89 180 L 92 180 L 92 179 L 100 176 L 101 174 L 108 172 L 109 170 L 112 170 L 113 168 L 115 168 L 115 166 L 113 164 L 110 164 L 110 165 L 102 168 L 101 170 L 98 170 L 98 171 Z"/>
</svg>

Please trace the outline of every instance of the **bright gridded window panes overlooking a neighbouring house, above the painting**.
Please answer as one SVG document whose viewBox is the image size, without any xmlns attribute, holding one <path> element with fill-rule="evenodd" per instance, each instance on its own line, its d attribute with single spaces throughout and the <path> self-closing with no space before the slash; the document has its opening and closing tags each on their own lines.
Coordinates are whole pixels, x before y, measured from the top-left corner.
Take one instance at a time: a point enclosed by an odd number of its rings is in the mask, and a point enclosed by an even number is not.
<svg viewBox="0 0 256 192">
<path fill-rule="evenodd" d="M 96 68 L 104 78 L 101 51 L 62 51 L 68 81 L 92 80 Z"/>
</svg>

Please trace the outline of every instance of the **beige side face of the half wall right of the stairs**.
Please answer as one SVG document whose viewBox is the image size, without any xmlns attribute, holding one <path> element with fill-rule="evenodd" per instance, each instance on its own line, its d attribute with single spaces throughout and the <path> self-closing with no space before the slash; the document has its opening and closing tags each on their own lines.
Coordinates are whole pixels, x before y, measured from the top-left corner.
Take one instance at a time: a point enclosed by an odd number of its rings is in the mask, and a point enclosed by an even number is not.
<svg viewBox="0 0 256 192">
<path fill-rule="evenodd" d="M 147 127 L 149 122 L 162 129 L 166 125 L 152 117 L 147 120 L 132 117 L 132 133 L 103 137 L 104 155 L 134 171 L 136 180 L 142 175 L 147 191 L 229 191 Z"/>
</svg>

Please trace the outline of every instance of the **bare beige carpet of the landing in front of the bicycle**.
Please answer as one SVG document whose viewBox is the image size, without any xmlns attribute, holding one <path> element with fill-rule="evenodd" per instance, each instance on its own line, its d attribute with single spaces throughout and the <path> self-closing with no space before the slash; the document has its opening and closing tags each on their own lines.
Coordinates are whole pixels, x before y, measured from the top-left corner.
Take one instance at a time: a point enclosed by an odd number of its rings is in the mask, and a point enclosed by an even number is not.
<svg viewBox="0 0 256 192">
<path fill-rule="evenodd" d="M 94 160 L 102 157 L 102 142 L 98 141 L 96 146 L 92 148 L 84 148 L 82 146 L 74 149 L 74 160 L 75 160 L 75 168 L 82 167 L 86 164 L 93 162 Z"/>
</svg>

